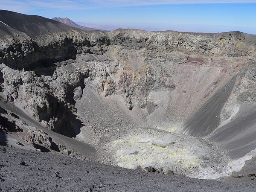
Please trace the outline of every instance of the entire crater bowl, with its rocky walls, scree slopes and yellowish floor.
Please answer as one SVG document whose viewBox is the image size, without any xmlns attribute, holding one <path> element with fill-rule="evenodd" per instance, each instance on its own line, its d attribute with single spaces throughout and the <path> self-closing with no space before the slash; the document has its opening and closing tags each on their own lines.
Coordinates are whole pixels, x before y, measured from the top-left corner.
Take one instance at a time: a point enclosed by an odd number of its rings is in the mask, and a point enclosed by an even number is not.
<svg viewBox="0 0 256 192">
<path fill-rule="evenodd" d="M 218 178 L 255 155 L 256 35 L 4 30 L 2 99 L 101 162 Z"/>
</svg>

